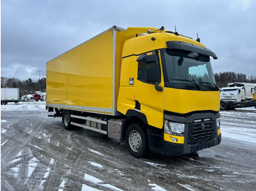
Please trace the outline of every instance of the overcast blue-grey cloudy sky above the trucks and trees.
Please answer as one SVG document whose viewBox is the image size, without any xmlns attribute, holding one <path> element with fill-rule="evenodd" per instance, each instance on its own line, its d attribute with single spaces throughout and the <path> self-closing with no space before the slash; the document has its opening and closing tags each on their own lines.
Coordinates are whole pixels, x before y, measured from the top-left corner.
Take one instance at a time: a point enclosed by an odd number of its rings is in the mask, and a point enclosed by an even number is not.
<svg viewBox="0 0 256 191">
<path fill-rule="evenodd" d="M 114 25 L 199 33 L 214 73 L 256 76 L 254 0 L 1 0 L 1 77 L 45 77 L 47 61 Z"/>
</svg>

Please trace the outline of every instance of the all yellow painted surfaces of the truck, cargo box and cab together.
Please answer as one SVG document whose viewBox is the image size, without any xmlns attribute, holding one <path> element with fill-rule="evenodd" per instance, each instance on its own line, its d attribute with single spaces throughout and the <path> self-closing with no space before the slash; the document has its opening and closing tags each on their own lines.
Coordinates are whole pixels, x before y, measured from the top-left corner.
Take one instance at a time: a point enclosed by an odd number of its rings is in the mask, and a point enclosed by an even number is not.
<svg viewBox="0 0 256 191">
<path fill-rule="evenodd" d="M 156 28 L 128 28 L 116 31 L 116 58 L 113 58 L 113 30 L 105 31 L 93 39 L 47 63 L 47 104 L 59 104 L 62 108 L 80 106 L 78 109 L 102 114 L 97 109 L 113 109 L 113 60 L 116 60 L 117 110 L 126 114 L 140 102 L 140 112 L 146 115 L 148 124 L 163 127 L 164 111 L 188 113 L 195 111 L 219 111 L 219 91 L 178 90 L 164 87 L 161 74 L 157 91 L 152 84 L 140 82 L 138 62 L 142 53 L 167 48 L 167 41 L 182 41 L 204 47 L 203 44 L 184 36 L 157 32 L 134 36 Z M 154 37 L 155 40 L 151 40 Z M 159 62 L 162 67 L 161 58 Z M 162 68 L 161 68 L 162 71 Z M 133 78 L 134 84 L 129 84 Z M 61 108 L 61 106 L 60 106 Z M 91 108 L 91 109 L 90 109 Z"/>
</svg>

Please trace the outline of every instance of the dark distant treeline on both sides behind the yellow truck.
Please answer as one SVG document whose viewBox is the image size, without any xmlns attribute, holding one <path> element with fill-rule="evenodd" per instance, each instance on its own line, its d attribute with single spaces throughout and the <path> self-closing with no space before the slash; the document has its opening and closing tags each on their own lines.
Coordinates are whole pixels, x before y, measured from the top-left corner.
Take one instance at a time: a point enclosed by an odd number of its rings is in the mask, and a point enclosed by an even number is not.
<svg viewBox="0 0 256 191">
<path fill-rule="evenodd" d="M 235 73 L 232 71 L 219 72 L 214 74 L 218 87 L 226 87 L 230 82 L 250 82 L 256 83 L 256 76 L 246 76 L 246 74 Z M 46 78 L 42 77 L 39 81 L 31 78 L 21 81 L 17 78 L 1 77 L 1 87 L 19 87 L 20 96 L 34 94 L 35 91 L 46 91 Z"/>
</svg>

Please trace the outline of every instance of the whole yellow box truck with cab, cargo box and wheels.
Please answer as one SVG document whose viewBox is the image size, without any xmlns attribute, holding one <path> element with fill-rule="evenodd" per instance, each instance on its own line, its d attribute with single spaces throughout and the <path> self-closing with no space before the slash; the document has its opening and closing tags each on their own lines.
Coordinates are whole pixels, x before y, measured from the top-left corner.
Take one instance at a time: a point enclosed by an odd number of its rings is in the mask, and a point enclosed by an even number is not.
<svg viewBox="0 0 256 191">
<path fill-rule="evenodd" d="M 164 27 L 113 26 L 47 63 L 46 108 L 125 142 L 134 157 L 184 155 L 221 141 L 211 50 Z"/>
</svg>

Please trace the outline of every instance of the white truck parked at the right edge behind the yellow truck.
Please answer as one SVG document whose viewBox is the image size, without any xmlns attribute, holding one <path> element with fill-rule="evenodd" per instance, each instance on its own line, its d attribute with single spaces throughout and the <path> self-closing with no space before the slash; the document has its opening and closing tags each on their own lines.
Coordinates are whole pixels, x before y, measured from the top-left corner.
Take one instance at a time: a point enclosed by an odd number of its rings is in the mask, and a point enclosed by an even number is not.
<svg viewBox="0 0 256 191">
<path fill-rule="evenodd" d="M 255 83 L 235 82 L 222 87 L 220 93 L 220 109 L 236 109 L 237 107 L 256 106 L 253 101 Z"/>
</svg>

